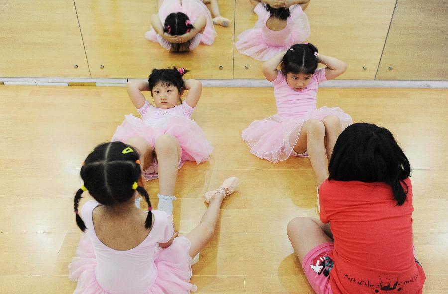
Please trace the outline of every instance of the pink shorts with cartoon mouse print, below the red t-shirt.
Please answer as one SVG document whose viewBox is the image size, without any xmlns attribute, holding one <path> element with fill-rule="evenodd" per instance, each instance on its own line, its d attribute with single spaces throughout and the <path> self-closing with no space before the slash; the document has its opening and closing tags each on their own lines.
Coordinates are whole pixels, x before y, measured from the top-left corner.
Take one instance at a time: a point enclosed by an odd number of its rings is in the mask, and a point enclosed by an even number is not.
<svg viewBox="0 0 448 294">
<path fill-rule="evenodd" d="M 333 261 L 328 257 L 328 253 L 334 248 L 333 242 L 318 245 L 308 252 L 302 261 L 305 277 L 316 294 L 333 294 L 329 275 Z"/>
</svg>

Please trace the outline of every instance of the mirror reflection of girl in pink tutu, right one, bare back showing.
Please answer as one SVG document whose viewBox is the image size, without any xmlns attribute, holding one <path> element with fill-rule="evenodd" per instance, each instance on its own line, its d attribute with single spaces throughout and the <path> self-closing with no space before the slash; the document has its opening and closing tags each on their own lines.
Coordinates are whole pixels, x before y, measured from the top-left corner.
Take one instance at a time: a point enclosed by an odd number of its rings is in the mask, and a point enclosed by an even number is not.
<svg viewBox="0 0 448 294">
<path fill-rule="evenodd" d="M 303 10 L 310 0 L 250 0 L 258 21 L 238 36 L 236 48 L 257 60 L 268 60 L 302 43 L 310 35 L 308 17 Z"/>
</svg>

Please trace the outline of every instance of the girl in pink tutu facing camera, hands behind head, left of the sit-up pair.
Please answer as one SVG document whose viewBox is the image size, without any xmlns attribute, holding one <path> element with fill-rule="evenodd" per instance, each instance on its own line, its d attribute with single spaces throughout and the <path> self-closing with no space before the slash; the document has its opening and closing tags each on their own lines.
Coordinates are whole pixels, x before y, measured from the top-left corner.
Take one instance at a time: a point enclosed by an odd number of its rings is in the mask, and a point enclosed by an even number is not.
<svg viewBox="0 0 448 294">
<path fill-rule="evenodd" d="M 191 119 L 201 97 L 202 85 L 197 80 L 182 79 L 188 71 L 176 67 L 154 69 L 146 81 L 127 84 L 127 92 L 141 119 L 126 115 L 112 141 L 137 148 L 147 180 L 159 177 L 159 198 L 173 196 L 177 171 L 185 161 L 197 164 L 208 160 L 213 147 L 198 124 Z M 184 90 L 187 97 L 182 102 Z M 150 91 L 154 106 L 143 96 Z"/>
</svg>

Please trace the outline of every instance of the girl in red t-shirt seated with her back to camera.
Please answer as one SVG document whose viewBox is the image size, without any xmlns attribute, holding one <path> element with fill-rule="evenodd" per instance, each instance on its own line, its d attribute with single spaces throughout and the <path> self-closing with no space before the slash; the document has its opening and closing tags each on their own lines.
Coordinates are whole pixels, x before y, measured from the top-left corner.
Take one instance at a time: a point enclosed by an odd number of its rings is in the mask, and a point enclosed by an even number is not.
<svg viewBox="0 0 448 294">
<path fill-rule="evenodd" d="M 357 123 L 339 136 L 319 188 L 320 220 L 298 217 L 288 237 L 317 294 L 419 294 L 410 165 L 392 134 Z M 330 229 L 331 225 L 331 229 Z"/>
</svg>

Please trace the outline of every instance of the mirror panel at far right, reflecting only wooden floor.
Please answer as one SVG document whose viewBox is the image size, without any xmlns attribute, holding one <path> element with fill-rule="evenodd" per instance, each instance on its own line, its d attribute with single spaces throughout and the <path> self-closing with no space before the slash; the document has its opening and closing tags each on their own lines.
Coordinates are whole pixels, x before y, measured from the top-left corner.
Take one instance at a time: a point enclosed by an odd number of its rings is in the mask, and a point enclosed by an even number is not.
<svg viewBox="0 0 448 294">
<path fill-rule="evenodd" d="M 398 0 L 377 79 L 448 80 L 447 36 L 448 0 Z"/>
</svg>

